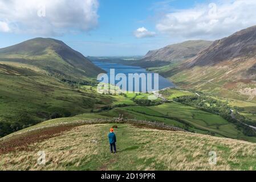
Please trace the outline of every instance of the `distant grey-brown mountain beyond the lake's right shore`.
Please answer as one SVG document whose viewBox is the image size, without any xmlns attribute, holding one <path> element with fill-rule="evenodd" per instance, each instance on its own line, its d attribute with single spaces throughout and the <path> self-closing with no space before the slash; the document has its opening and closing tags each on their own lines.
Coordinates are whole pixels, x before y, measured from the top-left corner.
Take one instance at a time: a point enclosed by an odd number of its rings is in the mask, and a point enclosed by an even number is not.
<svg viewBox="0 0 256 182">
<path fill-rule="evenodd" d="M 155 62 L 161 65 L 168 65 L 177 61 L 190 59 L 197 55 L 198 52 L 208 48 L 212 42 L 206 40 L 190 40 L 183 43 L 166 46 L 159 50 L 149 51 L 141 59 L 141 62 L 152 65 Z"/>
</svg>

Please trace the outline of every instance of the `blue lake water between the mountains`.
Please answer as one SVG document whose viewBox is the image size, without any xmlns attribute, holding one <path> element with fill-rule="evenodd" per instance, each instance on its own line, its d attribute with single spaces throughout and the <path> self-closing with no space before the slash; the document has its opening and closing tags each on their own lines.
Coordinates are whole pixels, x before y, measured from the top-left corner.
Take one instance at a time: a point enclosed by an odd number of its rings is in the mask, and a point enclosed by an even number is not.
<svg viewBox="0 0 256 182">
<path fill-rule="evenodd" d="M 106 63 L 106 62 L 99 62 L 99 61 L 94 61 L 93 62 L 95 65 L 97 65 L 97 67 L 100 67 L 101 69 L 104 69 L 107 74 L 108 77 L 110 76 L 110 70 L 111 69 L 115 69 L 115 75 L 117 75 L 118 73 L 124 73 L 127 77 L 129 73 L 152 73 L 152 72 L 148 72 L 146 69 L 141 68 L 141 67 L 133 67 L 133 66 L 129 66 L 129 65 L 122 65 L 122 64 L 115 64 L 115 63 Z M 153 77 L 154 78 L 154 77 Z M 152 85 L 153 85 L 153 81 L 154 79 L 152 79 Z M 116 81 L 118 82 L 118 81 Z M 141 84 L 141 82 L 140 82 Z M 175 85 L 170 82 L 168 79 L 162 77 L 159 75 L 159 90 L 165 89 L 165 88 L 173 88 L 175 87 Z M 127 88 L 128 88 L 128 84 L 127 84 Z M 141 90 L 141 87 L 140 87 Z M 129 90 L 131 91 L 131 90 Z"/>
</svg>

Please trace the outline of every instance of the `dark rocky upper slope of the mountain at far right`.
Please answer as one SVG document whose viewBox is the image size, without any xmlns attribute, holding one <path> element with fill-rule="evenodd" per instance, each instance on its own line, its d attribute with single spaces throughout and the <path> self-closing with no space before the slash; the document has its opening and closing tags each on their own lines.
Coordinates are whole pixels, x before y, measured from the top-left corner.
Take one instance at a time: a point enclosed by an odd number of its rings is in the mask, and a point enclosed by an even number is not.
<svg viewBox="0 0 256 182">
<path fill-rule="evenodd" d="M 245 63 L 256 57 L 256 26 L 216 40 L 213 44 L 189 61 L 189 67 L 209 66 L 225 61 Z M 248 65 L 250 67 L 250 65 Z M 248 68 L 249 68 L 248 67 Z"/>
</svg>

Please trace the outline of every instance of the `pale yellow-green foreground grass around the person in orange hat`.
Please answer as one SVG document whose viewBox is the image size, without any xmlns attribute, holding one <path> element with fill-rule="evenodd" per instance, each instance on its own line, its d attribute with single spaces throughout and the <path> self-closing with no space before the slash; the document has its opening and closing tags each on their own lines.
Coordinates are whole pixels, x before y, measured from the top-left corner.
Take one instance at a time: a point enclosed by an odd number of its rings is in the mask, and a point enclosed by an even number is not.
<svg viewBox="0 0 256 182">
<path fill-rule="evenodd" d="M 200 134 L 118 125 L 118 153 L 110 154 L 113 124 L 85 125 L 0 155 L 0 170 L 256 170 L 256 144 Z M 37 164 L 38 151 L 46 165 Z M 209 152 L 217 164 L 209 164 Z"/>
</svg>

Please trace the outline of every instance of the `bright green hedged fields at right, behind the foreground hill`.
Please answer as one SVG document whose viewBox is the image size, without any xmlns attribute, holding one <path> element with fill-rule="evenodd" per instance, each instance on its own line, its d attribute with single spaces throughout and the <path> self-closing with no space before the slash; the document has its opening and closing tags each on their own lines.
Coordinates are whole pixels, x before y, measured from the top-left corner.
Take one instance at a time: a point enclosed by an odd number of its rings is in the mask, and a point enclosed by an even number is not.
<svg viewBox="0 0 256 182">
<path fill-rule="evenodd" d="M 217 136 L 245 139 L 256 142 L 255 138 L 246 137 L 235 127 L 235 125 L 227 122 L 219 115 L 207 113 L 205 111 L 181 105 L 176 102 L 160 105 L 158 107 L 154 106 L 151 107 L 151 109 L 159 111 L 159 113 L 168 115 L 169 117 L 182 119 L 182 121 L 189 123 L 192 128 L 194 127 L 197 129 L 198 133 L 205 134 L 205 132 L 211 132 L 215 133 Z"/>
</svg>

